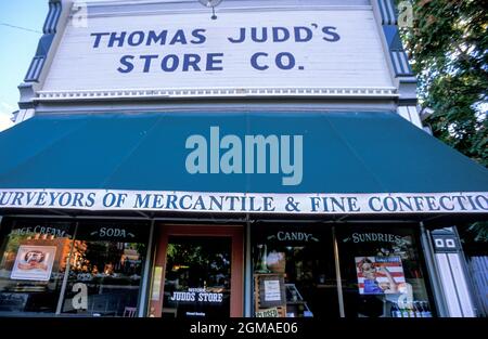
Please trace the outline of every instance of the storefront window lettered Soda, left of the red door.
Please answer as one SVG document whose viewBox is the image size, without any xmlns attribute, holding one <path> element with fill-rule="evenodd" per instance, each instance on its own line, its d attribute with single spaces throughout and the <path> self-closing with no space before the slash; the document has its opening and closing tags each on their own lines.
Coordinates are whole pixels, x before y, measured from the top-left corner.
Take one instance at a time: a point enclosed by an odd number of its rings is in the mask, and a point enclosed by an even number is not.
<svg viewBox="0 0 488 339">
<path fill-rule="evenodd" d="M 143 224 L 80 223 L 63 313 L 134 316 L 146 243 Z"/>
</svg>

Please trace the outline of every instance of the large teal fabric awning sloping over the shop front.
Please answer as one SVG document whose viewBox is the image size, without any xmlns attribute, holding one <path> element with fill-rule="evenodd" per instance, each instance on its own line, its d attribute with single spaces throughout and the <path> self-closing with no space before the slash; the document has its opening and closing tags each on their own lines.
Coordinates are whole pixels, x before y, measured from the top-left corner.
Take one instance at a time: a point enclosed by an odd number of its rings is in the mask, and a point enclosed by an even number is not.
<svg viewBox="0 0 488 339">
<path fill-rule="evenodd" d="M 258 141 L 259 135 L 267 152 L 261 173 L 258 149 L 254 149 L 254 164 L 246 158 L 246 145 L 252 145 L 246 138 Z M 198 148 L 204 143 L 205 151 Z M 449 204 L 444 201 L 447 211 L 458 203 L 452 211 L 488 209 L 488 170 L 391 112 L 47 115 L 0 133 L 0 208 L 24 203 L 34 207 L 36 199 L 43 203 L 34 195 L 27 201 L 29 190 L 72 194 L 112 190 L 281 194 L 283 203 L 286 195 L 335 195 L 339 199 L 397 194 L 408 201 L 395 204 L 404 209 L 410 204 L 418 211 L 424 206 L 419 208 L 419 201 L 412 200 L 415 195 L 436 197 L 421 204 L 432 203 L 436 208 L 442 194 L 450 194 Z M 189 161 L 193 167 L 189 168 Z M 15 201 L 16 191 L 24 194 Z M 455 194 L 470 197 L 452 203 Z M 153 206 L 152 201 L 139 203 L 134 206 Z M 316 203 L 307 204 L 313 207 Z M 370 206 L 371 212 L 380 208 L 375 206 Z M 391 206 L 385 207 L 387 212 Z"/>
</svg>

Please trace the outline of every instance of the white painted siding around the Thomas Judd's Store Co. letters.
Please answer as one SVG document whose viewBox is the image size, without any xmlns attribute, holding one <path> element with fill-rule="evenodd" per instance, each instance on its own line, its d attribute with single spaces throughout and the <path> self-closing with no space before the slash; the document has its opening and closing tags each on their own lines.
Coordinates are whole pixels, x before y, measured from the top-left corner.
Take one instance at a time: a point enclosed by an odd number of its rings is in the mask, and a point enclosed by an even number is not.
<svg viewBox="0 0 488 339">
<path fill-rule="evenodd" d="M 113 90 L 113 89 L 239 89 L 239 88 L 393 88 L 380 35 L 372 10 L 275 11 L 220 13 L 215 21 L 208 14 L 154 14 L 134 16 L 95 16 L 88 27 L 68 25 L 54 56 L 42 91 Z M 319 26 L 313 29 L 312 24 Z M 244 42 L 230 43 L 239 27 L 306 26 L 313 29 L 309 42 Z M 322 40 L 322 26 L 337 27 L 337 42 Z M 195 28 L 206 29 L 203 44 L 141 44 L 106 48 L 106 42 L 93 48 L 91 32 L 168 29 L 168 38 L 184 29 L 190 40 Z M 104 37 L 102 41 L 107 41 Z M 256 70 L 249 58 L 255 52 L 268 53 L 270 68 Z M 281 70 L 272 65 L 279 52 L 291 52 L 297 67 Z M 223 70 L 160 70 L 160 57 L 166 54 L 223 53 Z M 131 73 L 117 71 L 123 55 L 136 55 L 138 64 Z M 150 73 L 142 73 L 141 54 L 158 54 Z M 204 57 L 203 57 L 204 58 Z M 264 58 L 262 58 L 264 60 Z"/>
</svg>

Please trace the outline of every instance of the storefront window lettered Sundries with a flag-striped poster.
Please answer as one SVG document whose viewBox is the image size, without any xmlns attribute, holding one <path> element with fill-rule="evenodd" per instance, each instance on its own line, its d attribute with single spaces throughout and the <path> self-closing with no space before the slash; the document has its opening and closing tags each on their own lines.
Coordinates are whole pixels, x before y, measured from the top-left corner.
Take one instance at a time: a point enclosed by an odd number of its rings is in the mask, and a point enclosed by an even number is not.
<svg viewBox="0 0 488 339">
<path fill-rule="evenodd" d="M 336 227 L 346 316 L 433 316 L 414 227 Z"/>
</svg>

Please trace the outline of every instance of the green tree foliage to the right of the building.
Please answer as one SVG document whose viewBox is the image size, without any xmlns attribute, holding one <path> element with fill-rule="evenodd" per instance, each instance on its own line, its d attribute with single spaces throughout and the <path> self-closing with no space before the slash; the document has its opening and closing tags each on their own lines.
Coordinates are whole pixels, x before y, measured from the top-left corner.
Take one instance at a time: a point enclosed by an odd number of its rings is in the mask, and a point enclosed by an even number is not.
<svg viewBox="0 0 488 339">
<path fill-rule="evenodd" d="M 487 0 L 413 0 L 402 31 L 434 135 L 488 166 Z"/>
</svg>

